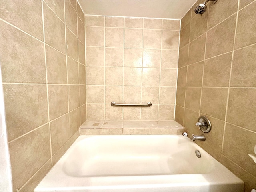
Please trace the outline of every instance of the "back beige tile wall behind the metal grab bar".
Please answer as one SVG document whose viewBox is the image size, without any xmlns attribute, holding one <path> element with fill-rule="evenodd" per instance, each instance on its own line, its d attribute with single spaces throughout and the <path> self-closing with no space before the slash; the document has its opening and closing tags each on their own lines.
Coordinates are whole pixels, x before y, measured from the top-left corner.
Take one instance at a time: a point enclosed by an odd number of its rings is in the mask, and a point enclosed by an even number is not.
<svg viewBox="0 0 256 192">
<path fill-rule="evenodd" d="M 86 16 L 85 26 L 87 119 L 174 120 L 180 20 Z"/>
</svg>

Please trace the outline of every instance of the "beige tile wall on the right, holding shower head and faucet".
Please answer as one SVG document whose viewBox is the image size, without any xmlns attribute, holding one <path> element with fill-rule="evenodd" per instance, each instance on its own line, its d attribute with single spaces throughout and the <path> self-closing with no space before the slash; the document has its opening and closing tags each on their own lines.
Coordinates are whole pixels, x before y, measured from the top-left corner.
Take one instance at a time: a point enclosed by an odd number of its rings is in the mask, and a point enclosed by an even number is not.
<svg viewBox="0 0 256 192">
<path fill-rule="evenodd" d="M 210 118 L 206 141 L 196 143 L 250 192 L 256 188 L 256 164 L 248 156 L 256 144 L 256 1 L 207 6 L 202 16 L 193 6 L 181 20 L 175 120 L 191 136 L 202 134 L 194 125 L 200 115 Z"/>
</svg>

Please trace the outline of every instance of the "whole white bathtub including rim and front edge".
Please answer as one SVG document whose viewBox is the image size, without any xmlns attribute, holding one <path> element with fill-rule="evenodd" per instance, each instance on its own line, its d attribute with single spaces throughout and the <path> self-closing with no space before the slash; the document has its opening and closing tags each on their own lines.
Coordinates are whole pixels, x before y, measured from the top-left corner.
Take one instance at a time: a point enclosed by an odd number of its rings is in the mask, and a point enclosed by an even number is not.
<svg viewBox="0 0 256 192">
<path fill-rule="evenodd" d="M 201 152 L 196 157 L 195 150 Z M 243 192 L 244 183 L 180 135 L 79 136 L 34 192 Z"/>
</svg>

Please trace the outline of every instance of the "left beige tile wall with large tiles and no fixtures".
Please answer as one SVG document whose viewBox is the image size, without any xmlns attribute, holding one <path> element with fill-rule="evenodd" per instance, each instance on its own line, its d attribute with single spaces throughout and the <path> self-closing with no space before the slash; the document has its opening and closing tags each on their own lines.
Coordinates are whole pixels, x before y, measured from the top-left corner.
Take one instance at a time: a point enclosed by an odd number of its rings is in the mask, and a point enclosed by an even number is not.
<svg viewBox="0 0 256 192">
<path fill-rule="evenodd" d="M 74 0 L 1 0 L 0 63 L 15 192 L 32 192 L 86 120 L 84 14 Z"/>
</svg>

